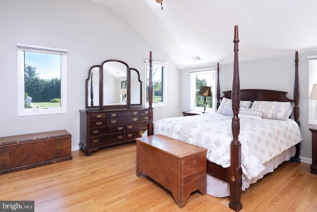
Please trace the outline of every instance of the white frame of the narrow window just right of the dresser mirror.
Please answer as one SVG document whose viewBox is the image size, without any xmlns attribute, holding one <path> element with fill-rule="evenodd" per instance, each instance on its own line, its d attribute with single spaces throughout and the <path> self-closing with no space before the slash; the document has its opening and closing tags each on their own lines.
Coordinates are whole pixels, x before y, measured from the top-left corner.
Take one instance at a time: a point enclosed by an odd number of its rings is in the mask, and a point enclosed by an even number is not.
<svg viewBox="0 0 317 212">
<path fill-rule="evenodd" d="M 149 107 L 149 102 L 148 99 L 147 99 L 147 93 L 148 93 L 148 89 L 147 89 L 147 86 L 148 86 L 148 71 L 147 71 L 147 66 L 150 66 L 150 61 L 145 61 L 144 63 L 144 70 L 145 70 L 145 92 L 144 92 L 144 105 L 145 107 Z M 158 61 L 152 61 L 152 67 L 153 66 L 161 66 L 163 67 L 163 78 L 162 78 L 162 85 L 163 85 L 163 91 L 162 91 L 162 94 L 163 94 L 163 97 L 162 97 L 162 102 L 152 102 L 152 106 L 153 107 L 166 107 L 167 106 L 167 66 L 168 64 L 167 63 L 164 63 L 164 62 L 158 62 Z"/>
</svg>

